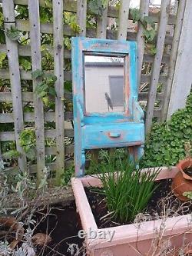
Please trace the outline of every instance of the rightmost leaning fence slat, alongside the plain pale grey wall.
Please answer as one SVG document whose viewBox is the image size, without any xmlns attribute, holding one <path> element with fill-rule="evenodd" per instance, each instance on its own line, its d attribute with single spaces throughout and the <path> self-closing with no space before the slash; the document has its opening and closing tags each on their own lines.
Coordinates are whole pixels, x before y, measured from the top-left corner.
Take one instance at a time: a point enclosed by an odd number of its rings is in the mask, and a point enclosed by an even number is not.
<svg viewBox="0 0 192 256">
<path fill-rule="evenodd" d="M 183 25 L 185 6 L 186 6 L 186 0 L 180 1 L 177 9 L 177 20 L 174 28 L 173 46 L 170 52 L 170 63 L 169 63 L 169 70 L 168 70 L 168 77 L 167 77 L 167 85 L 165 86 L 165 91 L 164 91 L 164 105 L 162 108 L 162 115 L 161 115 L 162 121 L 166 120 L 167 118 L 167 110 L 168 110 L 168 105 L 170 100 L 170 91 L 171 91 L 171 86 L 174 79 L 175 64 L 177 59 L 180 33 Z"/>
</svg>

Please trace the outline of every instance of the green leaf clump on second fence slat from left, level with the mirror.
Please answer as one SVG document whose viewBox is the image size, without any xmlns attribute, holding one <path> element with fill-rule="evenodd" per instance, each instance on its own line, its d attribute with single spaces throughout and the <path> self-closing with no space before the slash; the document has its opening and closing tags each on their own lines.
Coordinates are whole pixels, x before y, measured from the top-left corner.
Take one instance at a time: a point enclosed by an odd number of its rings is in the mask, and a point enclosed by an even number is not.
<svg viewBox="0 0 192 256">
<path fill-rule="evenodd" d="M 57 96 L 55 91 L 55 81 L 57 77 L 51 73 L 45 73 L 40 69 L 37 69 L 32 72 L 32 78 L 41 78 L 41 81 L 35 88 L 35 92 L 38 95 L 38 98 L 44 102 L 45 106 L 48 106 L 49 96 Z"/>
</svg>

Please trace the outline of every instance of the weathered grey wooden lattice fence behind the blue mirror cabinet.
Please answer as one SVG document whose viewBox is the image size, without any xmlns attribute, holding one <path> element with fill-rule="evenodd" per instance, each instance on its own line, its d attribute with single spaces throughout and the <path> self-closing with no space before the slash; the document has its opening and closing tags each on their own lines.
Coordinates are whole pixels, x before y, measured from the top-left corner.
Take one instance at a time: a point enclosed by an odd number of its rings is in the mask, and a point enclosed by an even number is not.
<svg viewBox="0 0 192 256">
<path fill-rule="evenodd" d="M 157 53 L 155 55 L 145 52 L 142 25 L 138 23 L 134 30 L 129 28 L 132 24 L 129 0 L 121 0 L 120 8 L 107 6 L 103 14 L 95 18 L 97 20 L 96 28 L 86 28 L 86 17 L 90 15 L 87 0 L 53 0 L 51 6 L 47 5 L 47 2 L 50 1 L 44 0 L 2 0 L 1 2 L 5 31 L 16 27 L 18 31 L 29 32 L 30 35 L 29 43 L 26 45 L 19 44 L 8 36 L 6 36 L 6 44 L 0 45 L 0 53 L 5 52 L 8 56 L 8 68 L 2 67 L 0 69 L 0 78 L 10 80 L 11 84 L 11 90 L 0 92 L 0 103 L 12 102 L 13 109 L 12 112 L 0 113 L 0 123 L 14 123 L 12 131 L 0 132 L 0 142 L 16 142 L 17 151 L 21 153 L 21 156 L 18 157 L 18 167 L 22 171 L 28 167 L 31 173 L 37 172 L 38 181 L 40 181 L 45 165 L 48 165 L 45 163 L 46 155 L 55 155 L 56 161 L 51 163 L 49 167 L 56 171 L 58 183 L 64 169 L 69 165 L 66 158 L 68 155 L 72 155 L 74 151 L 72 143 L 66 145 L 66 138 L 73 137 L 73 129 L 70 125 L 72 113 L 65 111 L 64 103 L 64 98 L 68 98 L 68 100 L 72 98 L 71 93 L 64 89 L 64 81 L 71 81 L 71 71 L 65 70 L 65 61 L 71 58 L 71 51 L 63 47 L 63 40 L 66 36 L 71 37 L 79 34 L 87 37 L 137 40 L 139 99 L 147 101 L 147 131 L 150 130 L 152 118 L 158 120 L 166 118 L 167 102 L 170 98 L 170 88 L 184 17 L 185 0 L 178 2 L 176 15 L 170 14 L 170 0 L 162 1 L 160 12 L 157 13 L 152 12 L 153 9 L 149 6 L 149 0 L 141 0 L 141 16 L 148 15 L 157 24 Z M 28 18 L 15 18 L 16 5 L 28 5 Z M 40 7 L 52 8 L 53 23 L 40 22 Z M 80 27 L 78 34 L 70 25 L 63 22 L 66 12 L 76 13 Z M 95 17 L 95 15 L 92 16 Z M 117 21 L 118 29 L 108 28 L 109 19 Z M 47 48 L 54 56 L 53 72 L 58 78 L 55 82 L 55 91 L 57 92 L 55 111 L 45 111 L 41 99 L 33 92 L 39 78 L 32 79 L 31 77 L 31 71 L 41 69 L 41 36 L 46 34 L 53 35 L 53 46 L 47 45 Z M 31 57 L 30 71 L 24 71 L 19 67 L 19 56 Z M 142 72 L 144 63 L 151 63 L 148 74 Z M 33 91 L 24 91 L 22 81 L 31 80 Z M 142 90 L 146 87 L 148 90 Z M 23 111 L 23 105 L 26 102 L 33 102 L 34 111 Z M 45 128 L 46 122 L 55 122 L 55 128 Z M 28 123 L 34 125 L 36 135 L 36 163 L 30 166 L 28 166 L 28 159 L 19 143 L 19 135 Z M 45 146 L 46 138 L 55 139 L 55 146 Z"/>
</svg>

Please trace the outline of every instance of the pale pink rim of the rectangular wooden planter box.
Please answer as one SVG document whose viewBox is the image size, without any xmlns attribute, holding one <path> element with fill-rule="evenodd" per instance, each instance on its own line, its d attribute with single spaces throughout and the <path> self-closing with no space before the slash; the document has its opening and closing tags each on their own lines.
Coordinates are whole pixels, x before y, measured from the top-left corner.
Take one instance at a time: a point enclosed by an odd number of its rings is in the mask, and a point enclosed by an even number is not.
<svg viewBox="0 0 192 256">
<path fill-rule="evenodd" d="M 155 170 L 156 169 L 157 168 L 155 168 Z M 143 169 L 142 171 L 147 170 L 148 168 Z M 151 170 L 154 170 L 154 168 L 151 168 Z M 174 178 L 177 172 L 177 167 L 163 167 L 159 175 L 157 175 L 156 180 Z M 89 228 L 96 232 L 115 231 L 114 238 L 111 242 L 106 241 L 106 239 L 86 239 L 88 248 L 92 248 L 94 250 L 99 248 L 108 248 L 109 246 L 111 247 L 117 244 L 127 244 L 157 237 L 155 230 L 160 230 L 162 220 L 141 222 L 139 224 L 139 228 L 136 224 L 125 224 L 113 228 L 98 228 L 94 220 L 94 215 L 92 214 L 88 198 L 85 194 L 84 187 L 101 186 L 100 179 L 97 178 L 97 175 L 87 175 L 82 178 L 72 178 L 71 185 L 74 191 L 74 198 L 84 231 L 88 231 Z M 167 218 L 164 223 L 166 226 L 164 236 L 180 234 L 180 232 L 188 231 L 190 221 L 191 214 Z"/>
</svg>

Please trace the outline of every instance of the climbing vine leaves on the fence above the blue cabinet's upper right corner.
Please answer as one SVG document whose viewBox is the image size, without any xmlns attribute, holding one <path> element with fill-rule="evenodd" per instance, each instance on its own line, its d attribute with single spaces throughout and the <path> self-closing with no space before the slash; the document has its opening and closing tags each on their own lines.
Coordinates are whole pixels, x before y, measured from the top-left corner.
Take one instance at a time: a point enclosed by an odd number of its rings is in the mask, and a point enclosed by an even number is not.
<svg viewBox="0 0 192 256">
<path fill-rule="evenodd" d="M 131 17 L 133 18 L 133 22 L 140 22 L 144 28 L 144 41 L 146 44 L 150 44 L 151 54 L 155 55 L 157 49 L 154 44 L 154 38 L 156 35 L 155 23 L 151 17 L 144 16 L 141 17 L 141 14 L 137 8 L 131 9 Z"/>
</svg>

